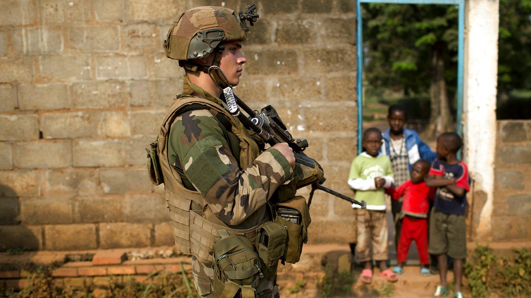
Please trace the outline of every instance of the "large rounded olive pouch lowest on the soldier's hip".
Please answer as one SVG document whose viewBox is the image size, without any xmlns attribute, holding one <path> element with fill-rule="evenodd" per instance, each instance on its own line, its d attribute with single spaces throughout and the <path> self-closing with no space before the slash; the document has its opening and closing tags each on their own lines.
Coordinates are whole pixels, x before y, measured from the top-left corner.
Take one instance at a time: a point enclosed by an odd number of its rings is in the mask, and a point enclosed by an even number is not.
<svg viewBox="0 0 531 298">
<path fill-rule="evenodd" d="M 221 297 L 234 297 L 239 290 L 242 297 L 254 297 L 264 268 L 253 244 L 244 236 L 229 236 L 219 230 L 222 239 L 213 247 L 214 290 Z"/>
</svg>

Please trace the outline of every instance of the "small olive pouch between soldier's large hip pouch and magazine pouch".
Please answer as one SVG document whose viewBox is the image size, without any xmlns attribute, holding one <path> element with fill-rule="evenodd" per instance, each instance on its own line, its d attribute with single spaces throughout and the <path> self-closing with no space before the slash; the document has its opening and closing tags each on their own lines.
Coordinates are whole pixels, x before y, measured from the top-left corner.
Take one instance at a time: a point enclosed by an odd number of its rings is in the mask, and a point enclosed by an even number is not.
<svg viewBox="0 0 531 298">
<path fill-rule="evenodd" d="M 275 265 L 275 261 L 284 256 L 287 231 L 284 225 L 267 222 L 258 229 L 256 248 L 258 256 L 266 266 Z"/>
</svg>

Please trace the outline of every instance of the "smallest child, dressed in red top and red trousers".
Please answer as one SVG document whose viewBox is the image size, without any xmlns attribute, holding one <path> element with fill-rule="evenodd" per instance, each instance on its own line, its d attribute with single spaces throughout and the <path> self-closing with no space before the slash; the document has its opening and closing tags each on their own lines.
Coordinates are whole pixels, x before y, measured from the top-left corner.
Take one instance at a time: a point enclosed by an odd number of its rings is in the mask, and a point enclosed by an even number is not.
<svg viewBox="0 0 531 298">
<path fill-rule="evenodd" d="M 426 186 L 424 178 L 430 171 L 430 163 L 427 160 L 417 160 L 411 169 L 410 180 L 404 182 L 396 190 L 393 187 L 387 189 L 391 198 L 398 200 L 404 197 L 404 204 L 400 211 L 402 219 L 402 232 L 398 242 L 398 266 L 393 268 L 396 274 L 404 273 L 404 267 L 411 241 L 415 240 L 418 256 L 421 260 L 421 275 L 429 276 L 430 258 L 428 256 L 428 211 L 430 201 L 433 200 L 433 189 Z"/>
</svg>

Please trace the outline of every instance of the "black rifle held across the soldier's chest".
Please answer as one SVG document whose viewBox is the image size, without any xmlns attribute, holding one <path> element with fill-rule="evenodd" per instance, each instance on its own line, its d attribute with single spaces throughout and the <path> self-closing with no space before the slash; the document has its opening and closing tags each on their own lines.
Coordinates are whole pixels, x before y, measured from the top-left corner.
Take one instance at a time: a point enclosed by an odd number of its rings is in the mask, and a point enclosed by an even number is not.
<svg viewBox="0 0 531 298">
<path fill-rule="evenodd" d="M 228 112 L 237 117 L 247 129 L 254 131 L 256 134 L 267 142 L 270 146 L 277 143 L 288 143 L 289 147 L 293 149 L 295 155 L 295 174 L 302 176 L 302 180 L 297 182 L 296 188 L 303 188 L 304 186 L 311 185 L 312 191 L 310 192 L 310 198 L 308 199 L 308 206 L 312 203 L 313 193 L 315 190 L 322 190 L 330 194 L 335 195 L 343 200 L 349 201 L 361 208 L 366 208 L 367 203 L 365 201 L 356 201 L 347 197 L 344 194 L 333 191 L 324 187 L 322 184 L 326 180 L 324 178 L 324 171 L 321 165 L 313 158 L 304 154 L 309 144 L 306 140 L 294 139 L 292 134 L 287 130 L 286 125 L 280 119 L 275 108 L 268 105 L 260 110 L 253 110 L 247 106 L 239 97 L 234 94 L 232 86 L 228 83 L 225 74 L 219 69 L 219 66 L 210 66 L 208 69 L 210 78 L 216 83 L 216 85 L 223 91 L 222 95 L 227 105 Z M 221 87 L 227 86 L 225 88 Z M 242 113 L 242 110 L 247 114 Z"/>
</svg>

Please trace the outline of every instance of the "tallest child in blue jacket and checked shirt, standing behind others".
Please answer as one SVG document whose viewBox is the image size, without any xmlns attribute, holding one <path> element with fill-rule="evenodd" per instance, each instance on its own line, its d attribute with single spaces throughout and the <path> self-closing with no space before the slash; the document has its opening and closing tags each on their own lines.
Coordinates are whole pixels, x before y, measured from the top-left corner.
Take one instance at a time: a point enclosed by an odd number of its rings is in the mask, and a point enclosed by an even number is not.
<svg viewBox="0 0 531 298">
<path fill-rule="evenodd" d="M 426 159 L 432 163 L 437 155 L 431 150 L 430 146 L 427 146 L 418 137 L 416 131 L 404 128 L 407 122 L 407 112 L 404 106 L 391 105 L 387 114 L 387 122 L 389 123 L 389 129 L 382 135 L 384 141 L 382 153 L 391 159 L 391 169 L 395 175 L 395 187 L 398 187 L 409 179 L 409 172 L 415 161 Z M 401 208 L 402 202 L 400 200 L 391 200 L 391 212 L 393 219 L 395 219 L 395 246 L 397 251 L 402 222 L 397 220 L 396 217 Z"/>
</svg>

